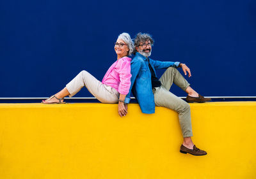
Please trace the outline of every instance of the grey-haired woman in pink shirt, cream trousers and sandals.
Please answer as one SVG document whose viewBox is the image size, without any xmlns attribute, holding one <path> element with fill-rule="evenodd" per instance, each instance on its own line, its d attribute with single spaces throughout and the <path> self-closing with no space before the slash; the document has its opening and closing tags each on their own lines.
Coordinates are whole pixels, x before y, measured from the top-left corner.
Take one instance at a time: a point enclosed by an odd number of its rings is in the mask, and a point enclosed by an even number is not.
<svg viewBox="0 0 256 179">
<path fill-rule="evenodd" d="M 102 103 L 118 103 L 118 114 L 122 117 L 127 114 L 125 96 L 131 86 L 131 58 L 133 42 L 129 34 L 122 33 L 115 42 L 117 61 L 108 69 L 102 82 L 87 71 L 81 71 L 66 87 L 42 101 L 44 104 L 61 104 L 65 96 L 72 97 L 84 86 Z"/>
</svg>

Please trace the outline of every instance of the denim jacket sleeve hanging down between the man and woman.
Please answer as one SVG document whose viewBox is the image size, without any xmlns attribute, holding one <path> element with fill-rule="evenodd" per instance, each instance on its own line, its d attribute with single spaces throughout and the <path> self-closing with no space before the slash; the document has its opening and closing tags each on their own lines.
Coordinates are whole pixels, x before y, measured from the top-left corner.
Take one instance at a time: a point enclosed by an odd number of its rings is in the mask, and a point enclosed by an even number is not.
<svg viewBox="0 0 256 179">
<path fill-rule="evenodd" d="M 125 97 L 125 101 L 124 101 L 125 103 L 130 103 L 132 86 L 134 85 L 136 77 L 140 73 L 140 68 L 141 68 L 141 61 L 132 61 L 131 62 L 131 75 L 132 75 L 131 87 L 130 87 L 129 93 Z"/>
</svg>

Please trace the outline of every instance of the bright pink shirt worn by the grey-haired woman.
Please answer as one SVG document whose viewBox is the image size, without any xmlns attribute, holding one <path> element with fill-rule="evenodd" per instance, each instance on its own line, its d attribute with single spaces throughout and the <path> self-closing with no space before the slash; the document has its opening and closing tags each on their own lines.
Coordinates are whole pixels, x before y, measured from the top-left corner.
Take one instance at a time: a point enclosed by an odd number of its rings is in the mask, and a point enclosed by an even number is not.
<svg viewBox="0 0 256 179">
<path fill-rule="evenodd" d="M 131 86 L 131 58 L 122 57 L 109 67 L 102 83 L 113 87 L 120 94 L 128 94 Z"/>
</svg>

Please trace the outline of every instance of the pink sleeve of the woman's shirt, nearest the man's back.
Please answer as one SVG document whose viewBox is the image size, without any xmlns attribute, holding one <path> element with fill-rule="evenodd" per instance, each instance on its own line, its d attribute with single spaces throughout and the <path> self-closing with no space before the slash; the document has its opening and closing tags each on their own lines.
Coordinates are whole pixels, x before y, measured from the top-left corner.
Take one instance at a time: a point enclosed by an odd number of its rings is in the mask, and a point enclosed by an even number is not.
<svg viewBox="0 0 256 179">
<path fill-rule="evenodd" d="M 120 83 L 118 86 L 118 92 L 120 94 L 128 94 L 131 86 L 131 59 L 125 57 L 119 59 L 116 64 L 116 72 L 119 74 Z"/>
</svg>

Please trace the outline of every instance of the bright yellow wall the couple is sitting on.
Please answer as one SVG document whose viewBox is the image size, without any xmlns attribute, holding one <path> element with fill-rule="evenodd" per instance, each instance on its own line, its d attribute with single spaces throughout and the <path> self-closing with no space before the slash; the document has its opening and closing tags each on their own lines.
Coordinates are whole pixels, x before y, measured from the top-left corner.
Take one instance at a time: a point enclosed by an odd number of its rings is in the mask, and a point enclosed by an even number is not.
<svg viewBox="0 0 256 179">
<path fill-rule="evenodd" d="M 181 154 L 177 113 L 138 104 L 0 104 L 1 179 L 256 178 L 256 103 L 191 104 L 193 141 Z"/>
</svg>

